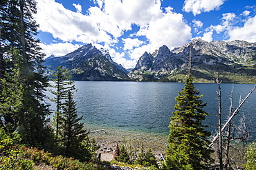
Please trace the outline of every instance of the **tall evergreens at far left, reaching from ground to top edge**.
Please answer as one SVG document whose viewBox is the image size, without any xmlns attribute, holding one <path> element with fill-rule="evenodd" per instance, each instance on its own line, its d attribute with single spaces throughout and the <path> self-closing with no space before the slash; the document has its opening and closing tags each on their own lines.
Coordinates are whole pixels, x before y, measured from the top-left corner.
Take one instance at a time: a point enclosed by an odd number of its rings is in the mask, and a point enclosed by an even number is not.
<svg viewBox="0 0 256 170">
<path fill-rule="evenodd" d="M 5 85 L 0 92 L 3 98 L 10 96 L 1 100 L 5 104 L 1 106 L 5 111 L 1 111 L 4 120 L 1 124 L 10 133 L 18 129 L 24 143 L 42 146 L 47 133 L 46 116 L 50 112 L 44 104 L 48 86 L 43 76 L 44 54 L 40 52 L 39 41 L 34 39 L 38 27 L 33 19 L 36 2 L 10 0 L 1 2 L 1 9 L 0 37 L 4 43 L 0 46 L 0 76 Z"/>
</svg>

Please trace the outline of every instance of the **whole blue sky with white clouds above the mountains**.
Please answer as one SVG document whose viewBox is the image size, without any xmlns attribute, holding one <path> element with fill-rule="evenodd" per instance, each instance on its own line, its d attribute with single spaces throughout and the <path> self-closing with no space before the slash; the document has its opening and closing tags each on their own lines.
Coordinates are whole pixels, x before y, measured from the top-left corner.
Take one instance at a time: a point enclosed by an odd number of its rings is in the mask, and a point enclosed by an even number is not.
<svg viewBox="0 0 256 170">
<path fill-rule="evenodd" d="M 92 43 L 134 68 L 144 52 L 192 39 L 256 42 L 255 0 L 37 0 L 37 38 L 47 56 Z"/>
</svg>

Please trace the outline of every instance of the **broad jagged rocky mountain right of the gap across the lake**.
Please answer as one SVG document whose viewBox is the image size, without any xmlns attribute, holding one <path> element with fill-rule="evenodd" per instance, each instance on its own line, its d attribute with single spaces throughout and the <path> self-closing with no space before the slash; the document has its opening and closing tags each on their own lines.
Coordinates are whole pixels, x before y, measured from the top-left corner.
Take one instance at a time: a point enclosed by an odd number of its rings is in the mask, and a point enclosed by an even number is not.
<svg viewBox="0 0 256 170">
<path fill-rule="evenodd" d="M 194 39 L 172 51 L 163 45 L 152 54 L 145 52 L 129 76 L 137 81 L 183 81 L 190 53 L 196 81 L 212 81 L 219 71 L 226 82 L 243 83 L 243 78 L 247 83 L 255 83 L 256 43 L 246 41 L 208 43 Z"/>
</svg>

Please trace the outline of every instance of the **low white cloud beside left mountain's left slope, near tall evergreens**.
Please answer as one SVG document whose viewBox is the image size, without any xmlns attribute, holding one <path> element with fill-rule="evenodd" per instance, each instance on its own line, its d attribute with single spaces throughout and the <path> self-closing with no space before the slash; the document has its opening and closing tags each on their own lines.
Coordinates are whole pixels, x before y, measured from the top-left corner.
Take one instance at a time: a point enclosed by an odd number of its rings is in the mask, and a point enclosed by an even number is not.
<svg viewBox="0 0 256 170">
<path fill-rule="evenodd" d="M 64 56 L 69 52 L 77 50 L 77 48 L 79 48 L 80 45 L 73 45 L 72 43 L 53 43 L 46 45 L 44 43 L 41 43 L 40 47 L 42 47 L 42 52 L 46 54 L 46 57 L 48 57 L 52 54 L 54 56 Z"/>
</svg>

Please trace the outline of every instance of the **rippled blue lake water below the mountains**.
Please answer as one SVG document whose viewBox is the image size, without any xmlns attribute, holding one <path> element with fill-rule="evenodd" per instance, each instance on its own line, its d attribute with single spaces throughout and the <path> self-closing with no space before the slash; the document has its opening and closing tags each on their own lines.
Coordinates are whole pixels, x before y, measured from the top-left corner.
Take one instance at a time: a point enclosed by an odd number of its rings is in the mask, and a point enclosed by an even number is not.
<svg viewBox="0 0 256 170">
<path fill-rule="evenodd" d="M 205 111 L 207 116 L 204 124 L 208 125 L 209 131 L 217 127 L 216 109 L 217 85 L 208 83 L 194 84 L 203 94 L 202 100 L 207 103 Z M 83 122 L 89 126 L 111 127 L 152 134 L 169 134 L 168 125 L 178 91 L 184 87 L 183 83 L 156 83 L 156 82 L 96 82 L 76 81 L 75 100 L 78 114 L 84 116 Z M 254 85 L 234 85 L 234 107 L 239 105 L 239 99 L 245 98 Z M 228 116 L 230 106 L 229 95 L 232 84 L 221 84 L 223 118 Z M 51 96 L 51 94 L 48 94 Z M 254 138 L 256 91 L 248 98 L 241 107 L 241 115 L 246 116 L 250 135 Z"/>
</svg>

